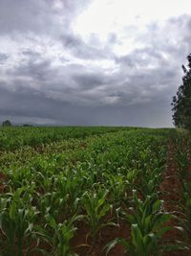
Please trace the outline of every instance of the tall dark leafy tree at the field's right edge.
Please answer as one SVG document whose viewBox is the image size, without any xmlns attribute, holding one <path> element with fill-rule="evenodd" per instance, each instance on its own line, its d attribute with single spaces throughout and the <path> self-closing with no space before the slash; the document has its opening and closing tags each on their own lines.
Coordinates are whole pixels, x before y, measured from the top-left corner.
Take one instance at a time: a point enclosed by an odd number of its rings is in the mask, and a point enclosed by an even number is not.
<svg viewBox="0 0 191 256">
<path fill-rule="evenodd" d="M 191 54 L 187 57 L 188 68 L 182 65 L 184 76 L 177 95 L 173 97 L 173 121 L 178 128 L 191 129 Z"/>
</svg>

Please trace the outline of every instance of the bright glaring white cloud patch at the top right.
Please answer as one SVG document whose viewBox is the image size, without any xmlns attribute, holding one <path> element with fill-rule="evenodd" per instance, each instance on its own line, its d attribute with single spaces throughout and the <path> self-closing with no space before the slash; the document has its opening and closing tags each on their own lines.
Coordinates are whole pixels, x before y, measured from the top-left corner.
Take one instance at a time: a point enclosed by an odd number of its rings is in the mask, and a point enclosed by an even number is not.
<svg viewBox="0 0 191 256">
<path fill-rule="evenodd" d="M 118 43 L 114 51 L 122 55 L 142 45 L 136 37 L 145 33 L 148 24 L 162 24 L 169 17 L 186 13 L 191 13 L 189 0 L 94 0 L 77 16 L 73 29 L 87 42 L 92 34 L 96 34 L 102 43 L 109 35 L 116 34 Z"/>
</svg>

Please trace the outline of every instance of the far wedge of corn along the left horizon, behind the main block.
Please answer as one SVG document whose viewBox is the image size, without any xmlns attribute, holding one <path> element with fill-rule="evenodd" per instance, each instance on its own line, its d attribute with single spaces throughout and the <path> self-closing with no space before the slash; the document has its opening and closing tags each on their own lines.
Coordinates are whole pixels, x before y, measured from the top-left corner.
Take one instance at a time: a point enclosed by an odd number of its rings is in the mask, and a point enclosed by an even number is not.
<svg viewBox="0 0 191 256">
<path fill-rule="evenodd" d="M 121 129 L 130 128 L 105 128 L 105 127 L 11 127 L 0 128 L 0 150 L 16 150 L 23 146 L 32 147 L 52 141 L 61 141 L 69 138 L 85 138 L 94 134 L 113 132 Z"/>
</svg>

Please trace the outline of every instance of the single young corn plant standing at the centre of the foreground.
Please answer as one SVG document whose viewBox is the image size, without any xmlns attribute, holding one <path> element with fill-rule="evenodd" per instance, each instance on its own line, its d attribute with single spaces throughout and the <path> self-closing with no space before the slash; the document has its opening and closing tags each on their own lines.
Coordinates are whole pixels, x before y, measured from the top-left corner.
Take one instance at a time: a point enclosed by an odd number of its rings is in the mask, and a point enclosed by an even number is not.
<svg viewBox="0 0 191 256">
<path fill-rule="evenodd" d="M 96 235 L 103 226 L 114 224 L 112 221 L 104 221 L 112 205 L 107 202 L 108 191 L 98 187 L 96 192 L 86 192 L 81 199 L 82 207 L 85 210 L 85 221 L 91 228 L 93 243 L 96 241 Z"/>
</svg>

